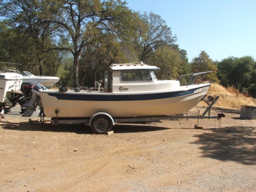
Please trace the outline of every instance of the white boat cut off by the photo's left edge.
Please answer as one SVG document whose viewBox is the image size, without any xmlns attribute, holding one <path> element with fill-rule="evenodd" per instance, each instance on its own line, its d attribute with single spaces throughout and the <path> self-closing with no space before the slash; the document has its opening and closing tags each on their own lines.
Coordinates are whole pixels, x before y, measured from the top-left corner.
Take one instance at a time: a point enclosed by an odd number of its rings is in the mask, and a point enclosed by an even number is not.
<svg viewBox="0 0 256 192">
<path fill-rule="evenodd" d="M 22 98 L 20 92 L 23 76 L 14 68 L 0 68 L 0 106 L 15 106 Z"/>
</svg>

